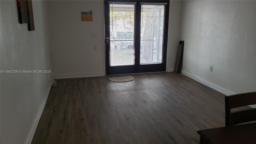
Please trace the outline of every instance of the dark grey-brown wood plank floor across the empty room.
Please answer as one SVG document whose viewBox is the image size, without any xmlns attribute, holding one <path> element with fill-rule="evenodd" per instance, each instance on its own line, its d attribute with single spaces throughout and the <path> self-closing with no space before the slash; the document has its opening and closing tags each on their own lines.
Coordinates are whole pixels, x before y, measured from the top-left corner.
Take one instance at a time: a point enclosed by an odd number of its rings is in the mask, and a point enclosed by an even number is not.
<svg viewBox="0 0 256 144">
<path fill-rule="evenodd" d="M 172 72 L 61 79 L 32 144 L 198 144 L 197 130 L 225 126 L 224 94 Z"/>
</svg>

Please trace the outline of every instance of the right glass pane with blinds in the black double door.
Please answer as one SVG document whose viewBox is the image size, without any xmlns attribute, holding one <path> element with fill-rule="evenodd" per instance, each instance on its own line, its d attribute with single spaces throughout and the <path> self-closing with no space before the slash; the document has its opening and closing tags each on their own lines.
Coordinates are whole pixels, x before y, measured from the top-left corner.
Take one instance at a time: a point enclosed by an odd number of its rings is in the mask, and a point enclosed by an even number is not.
<svg viewBox="0 0 256 144">
<path fill-rule="evenodd" d="M 163 62 L 165 5 L 141 5 L 140 64 Z"/>
</svg>

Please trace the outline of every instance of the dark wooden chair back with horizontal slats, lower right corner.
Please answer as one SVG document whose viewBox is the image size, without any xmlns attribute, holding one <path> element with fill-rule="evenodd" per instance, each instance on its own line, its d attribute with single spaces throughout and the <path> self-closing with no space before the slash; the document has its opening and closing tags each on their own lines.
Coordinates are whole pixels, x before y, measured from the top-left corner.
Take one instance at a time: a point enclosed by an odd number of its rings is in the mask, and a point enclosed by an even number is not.
<svg viewBox="0 0 256 144">
<path fill-rule="evenodd" d="M 256 108 L 232 112 L 232 108 L 256 104 L 256 92 L 225 96 L 226 126 L 256 120 Z"/>
</svg>

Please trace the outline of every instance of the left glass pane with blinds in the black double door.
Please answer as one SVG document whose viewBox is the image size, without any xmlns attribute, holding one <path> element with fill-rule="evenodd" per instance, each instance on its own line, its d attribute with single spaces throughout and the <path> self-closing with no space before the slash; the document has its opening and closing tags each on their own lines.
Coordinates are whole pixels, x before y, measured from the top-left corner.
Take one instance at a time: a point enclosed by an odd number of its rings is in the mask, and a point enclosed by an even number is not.
<svg viewBox="0 0 256 144">
<path fill-rule="evenodd" d="M 110 66 L 135 64 L 134 4 L 109 4 Z"/>
</svg>

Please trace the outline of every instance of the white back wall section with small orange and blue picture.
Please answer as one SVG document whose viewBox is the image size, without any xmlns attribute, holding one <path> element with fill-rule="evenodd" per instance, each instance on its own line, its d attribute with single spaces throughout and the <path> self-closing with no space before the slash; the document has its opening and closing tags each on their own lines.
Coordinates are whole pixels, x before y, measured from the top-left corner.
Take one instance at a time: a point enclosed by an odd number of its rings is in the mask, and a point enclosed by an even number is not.
<svg viewBox="0 0 256 144">
<path fill-rule="evenodd" d="M 103 8 L 103 1 L 100 0 L 49 2 L 51 46 L 56 78 L 105 74 Z M 81 21 L 81 12 L 90 10 L 93 21 Z M 96 33 L 97 38 L 91 38 L 91 33 Z"/>
</svg>

